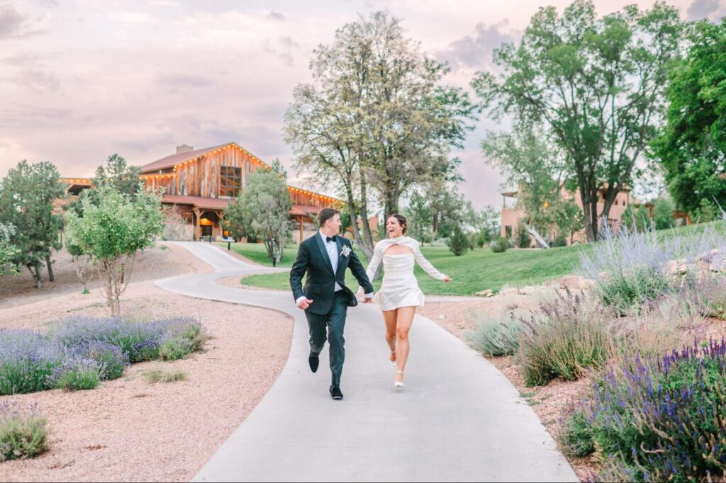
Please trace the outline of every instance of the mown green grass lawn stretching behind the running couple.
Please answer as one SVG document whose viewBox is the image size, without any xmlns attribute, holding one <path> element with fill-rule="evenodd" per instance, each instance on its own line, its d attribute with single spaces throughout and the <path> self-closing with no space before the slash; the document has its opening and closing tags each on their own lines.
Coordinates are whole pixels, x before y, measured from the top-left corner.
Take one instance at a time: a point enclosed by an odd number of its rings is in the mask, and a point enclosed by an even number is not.
<svg viewBox="0 0 726 483">
<path fill-rule="evenodd" d="M 661 230 L 659 239 L 677 233 L 679 235 L 693 235 L 701 233 L 711 223 L 684 226 L 674 230 Z M 724 233 L 726 224 L 717 222 L 717 230 Z M 272 266 L 267 258 L 264 245 L 261 244 L 232 244 L 237 252 L 249 257 L 258 263 Z M 576 271 L 579 267 L 580 254 L 590 253 L 597 244 L 574 245 L 549 250 L 537 249 L 508 249 L 504 253 L 494 253 L 490 249 L 475 249 L 461 257 L 455 257 L 447 247 L 423 247 L 423 255 L 433 263 L 433 266 L 452 278 L 448 284 L 428 276 L 418 265 L 415 274 L 419 286 L 425 294 L 437 295 L 471 295 L 480 290 L 492 289 L 494 292 L 502 289 L 504 285 L 525 286 L 539 285 L 553 278 L 560 278 Z M 280 266 L 290 267 L 295 260 L 297 245 L 285 248 L 285 257 Z M 367 265 L 359 250 L 356 253 Z M 289 290 L 289 275 L 287 273 L 274 273 L 271 275 L 253 275 L 243 278 L 246 285 L 258 286 L 266 289 Z M 346 283 L 351 288 L 358 286 L 350 271 L 346 273 Z M 380 280 L 374 281 L 373 286 L 378 290 Z"/>
</svg>

